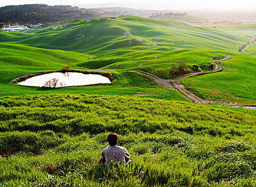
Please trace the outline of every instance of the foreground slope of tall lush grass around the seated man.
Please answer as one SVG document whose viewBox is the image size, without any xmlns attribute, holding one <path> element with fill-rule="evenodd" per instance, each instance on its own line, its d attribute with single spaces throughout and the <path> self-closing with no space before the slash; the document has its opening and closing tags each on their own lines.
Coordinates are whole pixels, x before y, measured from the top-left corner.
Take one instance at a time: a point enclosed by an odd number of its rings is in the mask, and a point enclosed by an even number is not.
<svg viewBox="0 0 256 187">
<path fill-rule="evenodd" d="M 255 111 L 138 97 L 0 99 L 0 181 L 22 186 L 255 186 Z M 108 131 L 129 167 L 96 166 Z"/>
</svg>

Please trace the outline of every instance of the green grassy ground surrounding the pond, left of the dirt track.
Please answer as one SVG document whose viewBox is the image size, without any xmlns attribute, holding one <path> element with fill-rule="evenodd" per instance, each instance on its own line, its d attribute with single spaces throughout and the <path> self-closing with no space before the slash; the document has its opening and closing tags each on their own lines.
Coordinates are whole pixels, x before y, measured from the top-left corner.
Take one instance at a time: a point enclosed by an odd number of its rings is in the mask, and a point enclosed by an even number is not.
<svg viewBox="0 0 256 187">
<path fill-rule="evenodd" d="M 36 72 L 57 71 L 64 65 L 75 69 L 82 61 L 89 60 L 85 54 L 78 52 L 47 50 L 24 45 L 0 43 L 0 96 L 40 93 L 92 93 L 102 95 L 145 95 L 147 97 L 187 100 L 178 91 L 162 88 L 148 77 L 134 72 L 112 72 L 117 81 L 109 85 L 89 85 L 58 89 L 26 87 L 12 84 L 18 76 Z M 36 58 L 35 58 L 36 57 Z"/>
</svg>

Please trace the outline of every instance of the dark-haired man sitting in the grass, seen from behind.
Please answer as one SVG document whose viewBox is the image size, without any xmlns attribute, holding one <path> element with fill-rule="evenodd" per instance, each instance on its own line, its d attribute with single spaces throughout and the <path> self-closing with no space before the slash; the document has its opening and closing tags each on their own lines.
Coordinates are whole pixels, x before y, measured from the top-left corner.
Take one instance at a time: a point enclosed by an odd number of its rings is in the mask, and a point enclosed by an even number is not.
<svg viewBox="0 0 256 187">
<path fill-rule="evenodd" d="M 102 151 L 102 158 L 100 159 L 100 162 L 103 163 L 106 167 L 111 160 L 114 162 L 119 162 L 120 165 L 128 165 L 131 162 L 130 154 L 124 147 L 117 146 L 117 141 L 117 134 L 109 133 L 109 146 Z"/>
</svg>

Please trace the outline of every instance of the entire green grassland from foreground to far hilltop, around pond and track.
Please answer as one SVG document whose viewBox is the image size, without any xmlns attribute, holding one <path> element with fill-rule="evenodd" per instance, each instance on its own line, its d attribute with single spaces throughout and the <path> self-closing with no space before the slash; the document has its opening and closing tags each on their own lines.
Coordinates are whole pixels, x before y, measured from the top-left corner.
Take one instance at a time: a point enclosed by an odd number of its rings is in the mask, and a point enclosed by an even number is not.
<svg viewBox="0 0 256 187">
<path fill-rule="evenodd" d="M 122 15 L 0 31 L 0 186 L 256 186 L 253 25 L 227 29 Z M 182 80 L 216 104 L 192 104 L 182 93 L 132 70 Z M 102 71 L 110 84 L 45 88 L 11 83 L 22 75 Z M 197 69 L 193 69 L 197 67 Z M 128 167 L 97 165 L 107 135 L 132 155 Z"/>
</svg>

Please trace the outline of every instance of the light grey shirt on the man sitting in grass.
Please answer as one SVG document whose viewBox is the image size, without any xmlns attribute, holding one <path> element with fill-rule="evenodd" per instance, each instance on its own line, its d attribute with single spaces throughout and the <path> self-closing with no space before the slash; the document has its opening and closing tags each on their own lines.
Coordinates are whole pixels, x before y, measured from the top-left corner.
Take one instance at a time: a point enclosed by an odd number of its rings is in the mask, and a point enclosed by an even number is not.
<svg viewBox="0 0 256 187">
<path fill-rule="evenodd" d="M 108 166 L 109 162 L 111 160 L 114 160 L 114 162 L 119 162 L 120 165 L 125 164 L 125 159 L 130 159 L 130 154 L 127 152 L 127 150 L 124 147 L 117 146 L 117 145 L 110 145 L 103 149 L 102 158 L 106 159 L 106 162 L 104 165 Z"/>
</svg>

